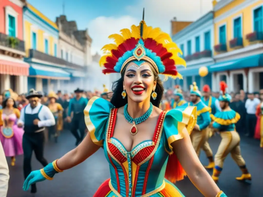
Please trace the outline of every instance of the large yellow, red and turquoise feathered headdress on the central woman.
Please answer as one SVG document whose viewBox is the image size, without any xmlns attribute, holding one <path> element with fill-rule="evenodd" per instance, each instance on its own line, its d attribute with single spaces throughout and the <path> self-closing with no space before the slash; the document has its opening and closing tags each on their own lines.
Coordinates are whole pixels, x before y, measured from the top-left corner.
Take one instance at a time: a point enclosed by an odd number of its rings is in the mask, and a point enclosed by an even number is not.
<svg viewBox="0 0 263 197">
<path fill-rule="evenodd" d="M 125 66 L 133 60 L 149 62 L 159 74 L 173 78 L 182 76 L 177 72 L 175 65 L 186 66 L 185 61 L 178 56 L 182 51 L 172 41 L 169 34 L 160 28 L 147 26 L 143 20 L 138 26 L 132 25 L 129 29 L 120 30 L 120 34 L 112 34 L 110 39 L 114 44 L 102 47 L 106 54 L 100 58 L 99 64 L 103 66 L 103 73 L 121 73 Z"/>
</svg>

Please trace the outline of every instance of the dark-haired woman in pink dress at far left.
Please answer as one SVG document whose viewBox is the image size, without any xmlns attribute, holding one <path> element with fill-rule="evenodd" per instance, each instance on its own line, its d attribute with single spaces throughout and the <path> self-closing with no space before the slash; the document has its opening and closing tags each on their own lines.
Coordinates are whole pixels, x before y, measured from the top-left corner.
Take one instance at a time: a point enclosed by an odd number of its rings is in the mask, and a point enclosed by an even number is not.
<svg viewBox="0 0 263 197">
<path fill-rule="evenodd" d="M 22 138 L 24 130 L 16 125 L 19 117 L 20 111 L 16 107 L 16 102 L 10 97 L 10 92 L 7 91 L 3 101 L 3 126 L 0 128 L 0 140 L 6 157 L 11 157 L 12 166 L 16 162 L 15 156 L 23 154 Z"/>
</svg>

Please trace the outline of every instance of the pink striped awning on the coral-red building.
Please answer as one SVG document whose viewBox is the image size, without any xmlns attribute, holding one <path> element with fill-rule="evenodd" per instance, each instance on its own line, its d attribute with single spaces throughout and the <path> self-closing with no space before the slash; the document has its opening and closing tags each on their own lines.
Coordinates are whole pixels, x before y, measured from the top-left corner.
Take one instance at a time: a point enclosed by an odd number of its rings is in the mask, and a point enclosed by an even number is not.
<svg viewBox="0 0 263 197">
<path fill-rule="evenodd" d="M 0 74 L 28 76 L 28 68 L 29 64 L 22 60 L 0 60 Z"/>
</svg>

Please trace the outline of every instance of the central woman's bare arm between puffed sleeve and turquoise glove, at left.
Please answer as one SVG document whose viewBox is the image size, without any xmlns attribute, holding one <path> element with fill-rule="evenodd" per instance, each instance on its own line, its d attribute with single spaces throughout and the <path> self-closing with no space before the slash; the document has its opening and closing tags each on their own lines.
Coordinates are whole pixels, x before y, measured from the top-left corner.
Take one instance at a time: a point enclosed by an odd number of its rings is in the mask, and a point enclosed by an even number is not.
<svg viewBox="0 0 263 197">
<path fill-rule="evenodd" d="M 94 144 L 90 138 L 90 133 L 87 133 L 87 136 L 84 140 L 74 148 L 72 151 L 66 153 L 63 157 L 57 160 L 57 165 L 60 170 L 67 170 L 72 168 L 81 162 L 85 161 L 93 153 L 95 153 L 100 146 Z"/>
</svg>

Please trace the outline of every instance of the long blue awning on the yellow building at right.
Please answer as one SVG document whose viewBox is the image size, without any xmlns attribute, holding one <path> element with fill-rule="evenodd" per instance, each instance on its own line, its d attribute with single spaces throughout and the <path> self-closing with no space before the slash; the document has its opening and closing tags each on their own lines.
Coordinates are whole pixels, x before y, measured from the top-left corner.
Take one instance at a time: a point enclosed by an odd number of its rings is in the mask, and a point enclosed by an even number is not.
<svg viewBox="0 0 263 197">
<path fill-rule="evenodd" d="M 263 66 L 262 59 L 263 59 L 263 54 L 259 54 L 245 58 L 224 61 L 209 66 L 209 72 L 220 72 L 225 70 L 235 70 L 235 69 Z"/>
</svg>

